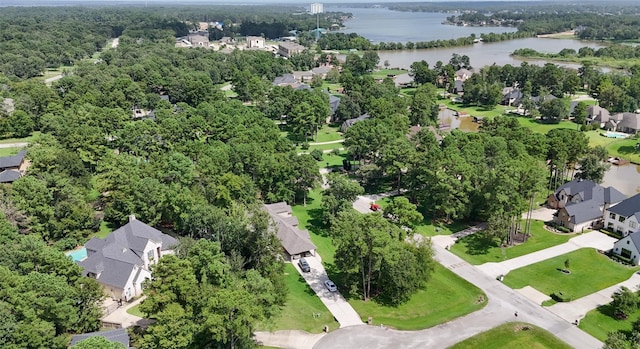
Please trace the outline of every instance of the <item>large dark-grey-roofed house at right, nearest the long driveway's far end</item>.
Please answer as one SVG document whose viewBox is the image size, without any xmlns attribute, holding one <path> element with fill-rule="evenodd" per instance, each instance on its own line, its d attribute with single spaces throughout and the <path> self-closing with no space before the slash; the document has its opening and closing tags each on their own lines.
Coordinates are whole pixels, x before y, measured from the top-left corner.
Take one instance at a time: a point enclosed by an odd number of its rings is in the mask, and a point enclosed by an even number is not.
<svg viewBox="0 0 640 349">
<path fill-rule="evenodd" d="M 558 211 L 554 223 L 571 231 L 601 226 L 605 210 L 626 196 L 613 187 L 603 187 L 590 180 L 573 180 L 549 195 L 547 204 Z"/>
</svg>

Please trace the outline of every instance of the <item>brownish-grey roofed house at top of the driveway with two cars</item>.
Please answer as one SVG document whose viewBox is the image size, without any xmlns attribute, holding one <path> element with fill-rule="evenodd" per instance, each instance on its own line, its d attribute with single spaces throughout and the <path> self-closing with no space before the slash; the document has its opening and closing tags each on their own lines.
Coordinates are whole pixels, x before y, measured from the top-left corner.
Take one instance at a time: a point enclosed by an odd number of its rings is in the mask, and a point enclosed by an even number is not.
<svg viewBox="0 0 640 349">
<path fill-rule="evenodd" d="M 291 206 L 286 202 L 278 202 L 265 204 L 264 208 L 275 223 L 276 235 L 287 259 L 315 255 L 316 245 L 311 242 L 308 231 L 298 228 L 298 219 L 292 214 Z"/>
</svg>

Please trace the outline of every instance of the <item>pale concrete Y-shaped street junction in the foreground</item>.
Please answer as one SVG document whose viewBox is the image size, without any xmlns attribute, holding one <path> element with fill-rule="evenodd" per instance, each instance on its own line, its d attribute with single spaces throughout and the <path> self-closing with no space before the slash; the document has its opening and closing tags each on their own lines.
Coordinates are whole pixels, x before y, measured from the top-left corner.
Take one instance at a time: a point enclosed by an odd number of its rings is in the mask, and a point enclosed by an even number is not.
<svg viewBox="0 0 640 349">
<path fill-rule="evenodd" d="M 350 326 L 322 337 L 314 349 L 446 348 L 502 323 L 516 320 L 546 329 L 574 348 L 600 348 L 602 343 L 540 305 L 520 295 L 442 246 L 433 245 L 436 258 L 465 280 L 482 289 L 488 304 L 462 318 L 422 331 L 396 331 L 375 326 Z"/>
</svg>

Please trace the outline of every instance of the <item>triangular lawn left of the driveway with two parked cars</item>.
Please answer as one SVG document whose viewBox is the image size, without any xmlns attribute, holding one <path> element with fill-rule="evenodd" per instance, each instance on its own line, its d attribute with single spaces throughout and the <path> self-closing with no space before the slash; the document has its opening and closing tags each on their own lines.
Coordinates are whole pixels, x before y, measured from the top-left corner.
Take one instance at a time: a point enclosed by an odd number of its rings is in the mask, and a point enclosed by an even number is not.
<svg viewBox="0 0 640 349">
<path fill-rule="evenodd" d="M 289 289 L 287 302 L 277 317 L 261 326 L 263 330 L 320 333 L 324 325 L 328 325 L 330 330 L 340 326 L 291 263 L 285 266 L 285 282 Z M 314 314 L 320 316 L 314 317 Z"/>
</svg>

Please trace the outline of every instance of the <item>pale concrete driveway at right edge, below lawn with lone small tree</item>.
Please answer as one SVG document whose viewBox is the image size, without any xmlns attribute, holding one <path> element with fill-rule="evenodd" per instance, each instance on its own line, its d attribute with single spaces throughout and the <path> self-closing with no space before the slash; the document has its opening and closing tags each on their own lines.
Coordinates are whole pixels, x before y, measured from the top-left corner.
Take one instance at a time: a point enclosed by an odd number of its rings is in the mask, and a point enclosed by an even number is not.
<svg viewBox="0 0 640 349">
<path fill-rule="evenodd" d="M 610 303 L 613 300 L 611 296 L 620 288 L 620 286 L 625 286 L 631 291 L 636 291 L 638 285 L 640 285 L 640 275 L 635 273 L 628 280 L 619 284 L 605 288 L 604 290 L 600 290 L 596 293 L 592 293 L 588 296 L 578 298 L 572 302 L 556 303 L 547 309 L 566 321 L 573 322 L 575 320 L 582 319 L 590 310 Z"/>
</svg>

